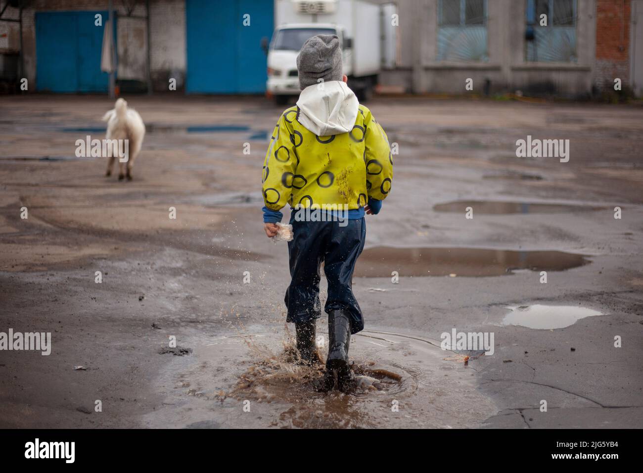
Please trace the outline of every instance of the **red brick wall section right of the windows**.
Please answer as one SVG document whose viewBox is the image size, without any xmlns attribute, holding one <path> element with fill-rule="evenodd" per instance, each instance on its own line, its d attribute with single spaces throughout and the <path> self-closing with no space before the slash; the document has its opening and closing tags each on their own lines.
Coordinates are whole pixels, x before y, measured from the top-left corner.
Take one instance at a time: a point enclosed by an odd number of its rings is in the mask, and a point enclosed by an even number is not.
<svg viewBox="0 0 643 473">
<path fill-rule="evenodd" d="M 629 0 L 596 1 L 596 62 L 593 82 L 613 87 L 614 79 L 629 83 Z"/>
</svg>

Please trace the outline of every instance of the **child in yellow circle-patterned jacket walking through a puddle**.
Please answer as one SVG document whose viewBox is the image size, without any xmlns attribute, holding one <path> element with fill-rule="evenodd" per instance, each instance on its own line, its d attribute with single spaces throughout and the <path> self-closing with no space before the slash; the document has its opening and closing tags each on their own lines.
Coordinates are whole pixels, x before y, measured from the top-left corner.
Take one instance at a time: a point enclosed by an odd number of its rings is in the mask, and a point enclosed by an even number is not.
<svg viewBox="0 0 643 473">
<path fill-rule="evenodd" d="M 280 210 L 293 209 L 288 243 L 290 286 L 287 322 L 294 322 L 304 362 L 316 360 L 315 320 L 320 317 L 320 266 L 328 281 L 327 387 L 352 379 L 350 334 L 364 328 L 352 292 L 355 263 L 364 248 L 364 214 L 377 214 L 391 189 L 388 138 L 367 107 L 348 88 L 336 35 L 317 35 L 297 56 L 302 93 L 273 131 L 263 169 L 264 229 L 276 235 Z M 315 212 L 311 209 L 322 209 Z M 329 210 L 331 209 L 331 210 Z M 340 210 L 336 210 L 340 209 Z M 344 210 L 341 210 L 344 209 Z M 302 210 L 307 210 L 303 212 Z"/>
</svg>

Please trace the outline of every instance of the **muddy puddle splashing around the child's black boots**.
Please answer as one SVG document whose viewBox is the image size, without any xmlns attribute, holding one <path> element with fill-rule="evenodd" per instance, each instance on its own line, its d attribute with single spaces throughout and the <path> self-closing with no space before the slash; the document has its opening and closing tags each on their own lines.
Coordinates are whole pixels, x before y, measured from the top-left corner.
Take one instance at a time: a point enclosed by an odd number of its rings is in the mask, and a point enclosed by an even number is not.
<svg viewBox="0 0 643 473">
<path fill-rule="evenodd" d="M 322 326 L 318 337 L 327 340 Z M 323 364 L 298 365 L 293 346 L 287 328 L 201 340 L 194 355 L 174 357 L 174 374 L 159 378 L 168 408 L 148 414 L 148 425 L 456 428 L 480 425 L 496 412 L 475 389 L 475 367 L 435 340 L 374 330 L 354 335 L 356 382 L 347 393 L 321 391 Z M 325 359 L 327 349 L 318 347 Z"/>
</svg>

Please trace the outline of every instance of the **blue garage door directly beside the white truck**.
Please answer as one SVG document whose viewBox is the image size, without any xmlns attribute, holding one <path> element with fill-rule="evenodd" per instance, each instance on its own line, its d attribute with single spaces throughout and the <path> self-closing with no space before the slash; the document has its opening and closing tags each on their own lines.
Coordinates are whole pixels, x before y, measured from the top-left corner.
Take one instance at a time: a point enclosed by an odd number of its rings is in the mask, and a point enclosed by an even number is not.
<svg viewBox="0 0 643 473">
<path fill-rule="evenodd" d="M 244 15 L 249 26 L 244 26 Z M 186 1 L 188 93 L 263 93 L 266 54 L 262 37 L 274 29 L 267 0 Z"/>
</svg>

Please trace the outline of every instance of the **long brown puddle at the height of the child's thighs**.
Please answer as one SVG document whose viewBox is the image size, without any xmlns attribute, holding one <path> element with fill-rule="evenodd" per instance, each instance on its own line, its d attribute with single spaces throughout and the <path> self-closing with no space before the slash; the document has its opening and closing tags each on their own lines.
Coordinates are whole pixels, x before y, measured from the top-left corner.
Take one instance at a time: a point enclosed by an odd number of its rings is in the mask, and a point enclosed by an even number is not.
<svg viewBox="0 0 643 473">
<path fill-rule="evenodd" d="M 513 270 L 563 271 L 583 266 L 584 255 L 559 251 L 489 250 L 484 248 L 395 248 L 374 246 L 363 251 L 358 277 L 500 276 Z"/>
</svg>

